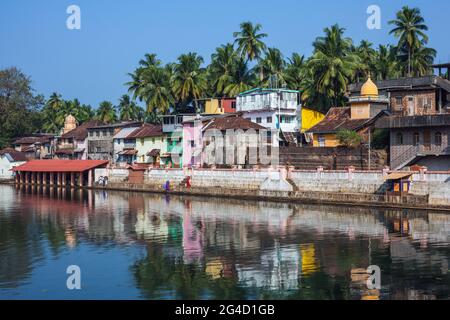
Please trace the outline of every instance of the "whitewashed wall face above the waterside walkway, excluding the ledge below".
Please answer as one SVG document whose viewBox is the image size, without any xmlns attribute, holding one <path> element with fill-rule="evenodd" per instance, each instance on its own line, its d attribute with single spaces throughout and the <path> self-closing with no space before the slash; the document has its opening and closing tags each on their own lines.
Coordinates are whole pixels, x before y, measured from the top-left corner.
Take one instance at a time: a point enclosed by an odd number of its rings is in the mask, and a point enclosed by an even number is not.
<svg viewBox="0 0 450 320">
<path fill-rule="evenodd" d="M 259 195 L 289 197 L 297 193 L 383 195 L 386 191 L 388 171 L 342 171 L 293 170 L 273 168 L 259 170 L 243 169 L 150 169 L 144 173 L 145 185 L 149 189 L 162 189 L 168 181 L 171 189 L 185 187 L 190 177 L 193 188 L 211 193 L 227 189 L 239 194 L 254 192 Z M 95 181 L 108 177 L 111 183 L 127 183 L 127 169 L 96 169 Z M 213 192 L 215 190 L 215 192 Z M 450 206 L 450 172 L 420 172 L 412 175 L 411 195 L 427 196 L 428 204 Z"/>
</svg>

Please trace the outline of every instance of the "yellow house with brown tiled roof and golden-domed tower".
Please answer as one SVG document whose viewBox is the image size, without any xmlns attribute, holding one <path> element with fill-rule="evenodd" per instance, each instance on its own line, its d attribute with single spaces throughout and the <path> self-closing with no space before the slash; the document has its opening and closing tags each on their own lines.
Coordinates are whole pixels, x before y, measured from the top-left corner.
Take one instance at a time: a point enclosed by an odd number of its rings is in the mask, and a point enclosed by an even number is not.
<svg viewBox="0 0 450 320">
<path fill-rule="evenodd" d="M 389 99 L 379 95 L 378 87 L 370 76 L 361 87 L 361 94 L 349 100 L 349 107 L 331 108 L 321 122 L 306 131 L 312 135 L 314 147 L 338 147 L 340 142 L 337 133 L 340 130 L 364 135 L 389 105 Z"/>
</svg>

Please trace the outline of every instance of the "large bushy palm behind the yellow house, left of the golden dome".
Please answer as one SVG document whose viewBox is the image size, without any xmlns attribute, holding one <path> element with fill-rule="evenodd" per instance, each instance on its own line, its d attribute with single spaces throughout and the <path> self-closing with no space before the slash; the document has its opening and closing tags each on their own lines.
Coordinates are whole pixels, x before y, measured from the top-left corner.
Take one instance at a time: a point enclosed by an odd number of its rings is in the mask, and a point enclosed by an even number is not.
<svg viewBox="0 0 450 320">
<path fill-rule="evenodd" d="M 310 94 L 321 94 L 330 99 L 331 104 L 325 109 L 345 104 L 345 91 L 358 63 L 351 52 L 351 39 L 344 38 L 344 30 L 337 24 L 326 28 L 325 36 L 314 41 L 314 53 L 308 61 L 310 84 L 314 86 Z"/>
</svg>

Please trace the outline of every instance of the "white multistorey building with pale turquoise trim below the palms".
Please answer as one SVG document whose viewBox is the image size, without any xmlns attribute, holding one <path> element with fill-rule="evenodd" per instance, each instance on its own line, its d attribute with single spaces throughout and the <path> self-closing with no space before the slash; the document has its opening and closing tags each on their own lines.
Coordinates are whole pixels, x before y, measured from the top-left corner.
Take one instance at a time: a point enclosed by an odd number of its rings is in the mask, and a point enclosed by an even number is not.
<svg viewBox="0 0 450 320">
<path fill-rule="evenodd" d="M 239 94 L 236 111 L 269 129 L 297 133 L 301 129 L 299 91 L 256 88 Z"/>
</svg>

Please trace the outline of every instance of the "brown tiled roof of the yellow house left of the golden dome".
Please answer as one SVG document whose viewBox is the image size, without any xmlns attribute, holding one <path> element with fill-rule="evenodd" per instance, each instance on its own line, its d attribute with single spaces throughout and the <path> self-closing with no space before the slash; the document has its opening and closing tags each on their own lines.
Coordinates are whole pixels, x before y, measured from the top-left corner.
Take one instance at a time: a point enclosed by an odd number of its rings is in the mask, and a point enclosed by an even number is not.
<svg viewBox="0 0 450 320">
<path fill-rule="evenodd" d="M 335 133 L 341 129 L 358 130 L 370 119 L 350 119 L 350 107 L 331 108 L 325 118 L 309 129 L 309 133 Z"/>
</svg>

